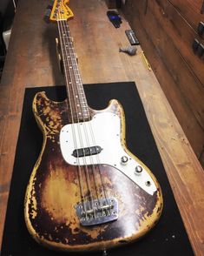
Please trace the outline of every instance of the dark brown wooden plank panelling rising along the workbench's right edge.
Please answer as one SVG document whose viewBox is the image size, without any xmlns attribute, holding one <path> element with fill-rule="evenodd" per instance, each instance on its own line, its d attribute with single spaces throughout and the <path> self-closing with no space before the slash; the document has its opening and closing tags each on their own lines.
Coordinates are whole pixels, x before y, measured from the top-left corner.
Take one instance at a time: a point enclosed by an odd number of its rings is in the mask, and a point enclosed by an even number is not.
<svg viewBox="0 0 204 256">
<path fill-rule="evenodd" d="M 202 39 L 181 16 L 182 9 L 176 9 L 170 1 L 148 1 L 147 8 L 144 3 L 142 0 L 136 3 L 130 0 L 124 6 L 124 12 L 140 38 L 143 50 L 147 51 L 149 62 L 176 118 L 195 154 L 201 159 L 204 145 L 204 63 L 194 54 L 192 44 L 194 38 L 201 42 Z M 186 9 L 184 2 L 182 6 Z"/>
</svg>

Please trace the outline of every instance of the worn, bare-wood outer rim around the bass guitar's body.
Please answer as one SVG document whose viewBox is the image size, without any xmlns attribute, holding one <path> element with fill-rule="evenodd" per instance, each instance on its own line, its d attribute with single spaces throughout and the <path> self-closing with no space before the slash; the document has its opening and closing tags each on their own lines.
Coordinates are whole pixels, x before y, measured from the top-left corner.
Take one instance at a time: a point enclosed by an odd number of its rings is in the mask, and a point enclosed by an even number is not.
<svg viewBox="0 0 204 256">
<path fill-rule="evenodd" d="M 30 234 L 32 235 L 32 237 L 39 243 L 42 244 L 43 246 L 52 248 L 52 249 L 56 249 L 56 250 L 61 250 L 61 251 L 69 251 L 69 252 L 82 252 L 84 250 L 86 251 L 95 251 L 95 250 L 103 250 L 105 249 L 109 249 L 110 247 L 115 247 L 115 246 L 122 246 L 123 244 L 127 244 L 127 243 L 131 243 L 134 242 L 137 239 L 140 239 L 143 235 L 145 235 L 147 232 L 149 232 L 157 223 L 157 221 L 160 219 L 161 216 L 161 212 L 162 212 L 162 208 L 163 208 L 163 199 L 162 199 L 162 195 L 161 195 L 161 187 L 159 185 L 159 183 L 157 182 L 157 180 L 155 179 L 155 176 L 153 175 L 152 172 L 150 172 L 150 170 L 148 169 L 147 166 L 145 166 L 141 160 L 139 158 L 136 158 L 134 154 L 132 154 L 131 152 L 128 151 L 127 145 L 126 145 L 126 139 L 125 139 L 125 115 L 124 115 L 124 111 L 122 109 L 122 105 L 115 99 L 111 100 L 109 102 L 109 105 L 106 109 L 104 110 L 100 110 L 100 111 L 95 111 L 90 109 L 90 112 L 92 114 L 92 116 L 94 116 L 96 113 L 102 112 L 102 111 L 110 111 L 110 112 L 114 112 L 116 115 L 118 115 L 121 119 L 121 139 L 122 139 L 122 147 L 123 149 L 132 157 L 135 158 L 135 160 L 137 162 L 139 162 L 149 173 L 149 175 L 151 176 L 151 178 L 154 180 L 155 185 L 157 187 L 157 202 L 155 205 L 155 209 L 152 212 L 151 217 L 148 216 L 148 221 L 149 221 L 149 225 L 147 225 L 147 223 L 144 224 L 144 226 L 142 226 L 141 224 L 141 231 L 137 232 L 136 234 L 134 234 L 133 236 L 131 236 L 131 238 L 125 238 L 125 237 L 119 237 L 116 239 L 111 239 L 111 240 L 106 240 L 106 241 L 98 241 L 95 243 L 91 243 L 88 245 L 79 245 L 79 246 L 69 246 L 69 245 L 64 245 L 63 243 L 56 243 L 54 241 L 49 241 L 48 239 L 43 239 L 42 237 L 39 237 L 38 233 L 36 233 L 36 230 L 34 229 L 34 227 L 31 225 L 30 223 L 30 215 L 29 215 L 29 209 L 28 209 L 28 201 L 29 199 L 29 195 L 31 194 L 32 191 L 32 180 L 34 179 L 38 166 L 41 164 L 41 159 L 43 156 L 43 152 L 47 143 L 47 131 L 45 129 L 45 125 L 43 124 L 41 118 L 39 118 L 38 114 L 37 114 L 37 110 L 36 110 L 36 97 L 37 95 L 41 95 L 43 98 L 46 98 L 47 100 L 49 100 L 49 98 L 47 98 L 47 96 L 45 95 L 44 92 L 38 92 L 33 100 L 33 112 L 36 118 L 36 122 L 37 125 L 40 127 L 40 129 L 43 131 L 43 146 L 42 146 L 42 151 L 39 154 L 39 157 L 37 158 L 36 161 L 36 165 L 33 168 L 33 171 L 31 173 L 30 176 L 30 182 L 27 186 L 27 190 L 26 190 L 26 196 L 25 196 L 25 201 L 24 201 L 24 218 L 25 218 L 25 222 L 26 222 L 26 226 L 28 227 L 28 230 L 30 232 Z M 49 100 L 50 101 L 50 100 Z M 66 101 L 64 101 L 66 102 Z M 54 102 L 55 104 L 60 104 L 58 102 Z M 32 200 L 35 199 L 35 196 L 32 197 Z M 35 205 L 35 202 L 34 202 Z M 37 205 L 36 205 L 37 206 Z"/>
</svg>

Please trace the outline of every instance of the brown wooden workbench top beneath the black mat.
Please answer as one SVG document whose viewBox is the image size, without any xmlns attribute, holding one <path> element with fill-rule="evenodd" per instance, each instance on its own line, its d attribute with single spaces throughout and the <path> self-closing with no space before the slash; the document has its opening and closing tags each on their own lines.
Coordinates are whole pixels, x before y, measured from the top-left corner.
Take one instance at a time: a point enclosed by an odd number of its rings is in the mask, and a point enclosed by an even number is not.
<svg viewBox="0 0 204 256">
<path fill-rule="evenodd" d="M 19 0 L 0 85 L 0 242 L 24 88 L 65 83 L 56 62 L 56 24 L 43 21 L 48 4 L 47 0 Z M 134 57 L 119 53 L 120 46 L 128 45 L 124 33 L 128 23 L 123 19 L 116 30 L 102 0 L 73 0 L 70 6 L 75 19 L 69 27 L 83 83 L 135 81 L 194 253 L 203 255 L 204 172 L 155 74 L 144 64 L 141 49 Z"/>
</svg>

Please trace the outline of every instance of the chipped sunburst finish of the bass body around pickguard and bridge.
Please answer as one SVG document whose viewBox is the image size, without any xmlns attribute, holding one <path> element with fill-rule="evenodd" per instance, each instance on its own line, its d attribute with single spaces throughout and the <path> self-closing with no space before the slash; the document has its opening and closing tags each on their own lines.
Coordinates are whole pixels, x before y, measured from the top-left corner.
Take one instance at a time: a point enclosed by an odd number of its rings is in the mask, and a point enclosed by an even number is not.
<svg viewBox="0 0 204 256">
<path fill-rule="evenodd" d="M 109 165 L 101 165 L 102 179 L 109 196 L 119 204 L 119 217 L 99 226 L 81 226 L 76 216 L 76 204 L 81 202 L 77 166 L 68 165 L 62 156 L 59 133 L 70 123 L 67 101 L 53 102 L 44 92 L 33 101 L 36 121 L 43 131 L 43 149 L 30 177 L 25 197 L 26 225 L 38 243 L 57 250 L 79 252 L 104 250 L 133 242 L 147 233 L 158 221 L 162 210 L 161 189 L 154 175 L 135 158 L 125 143 L 125 118 L 122 106 L 112 100 L 103 111 L 114 112 L 121 119 L 122 147 L 148 170 L 157 191 L 149 195 L 122 172 Z M 89 109 L 93 118 L 99 111 Z M 89 169 L 93 196 L 103 196 L 98 167 Z M 94 176 L 95 175 L 95 176 Z M 82 180 L 86 184 L 85 174 Z M 95 190 L 95 182 L 98 185 Z M 88 190 L 85 187 L 85 191 Z M 88 193 L 88 192 L 87 192 Z"/>
</svg>

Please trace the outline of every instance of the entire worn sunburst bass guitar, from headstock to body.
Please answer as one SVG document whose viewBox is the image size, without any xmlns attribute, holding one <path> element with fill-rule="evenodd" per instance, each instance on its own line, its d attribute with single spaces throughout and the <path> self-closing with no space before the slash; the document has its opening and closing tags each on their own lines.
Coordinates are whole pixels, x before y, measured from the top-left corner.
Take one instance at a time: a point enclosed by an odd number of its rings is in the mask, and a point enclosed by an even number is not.
<svg viewBox="0 0 204 256">
<path fill-rule="evenodd" d="M 65 3 L 66 2 L 66 3 Z M 51 13 L 59 30 L 68 98 L 53 102 L 44 92 L 33 101 L 43 149 L 31 173 L 24 203 L 32 237 L 56 250 L 106 250 L 140 239 L 158 221 L 160 185 L 128 151 L 125 117 L 116 100 L 89 108 L 67 19 L 68 1 Z"/>
</svg>

